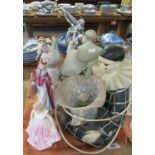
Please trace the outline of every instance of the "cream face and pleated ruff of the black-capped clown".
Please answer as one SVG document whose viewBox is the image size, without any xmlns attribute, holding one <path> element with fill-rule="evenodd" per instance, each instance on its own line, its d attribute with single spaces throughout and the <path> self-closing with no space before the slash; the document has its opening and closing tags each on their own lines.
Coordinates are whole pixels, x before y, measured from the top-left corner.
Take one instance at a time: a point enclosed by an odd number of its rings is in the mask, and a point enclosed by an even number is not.
<svg viewBox="0 0 155 155">
<path fill-rule="evenodd" d="M 128 88 L 132 83 L 132 65 L 127 60 L 106 61 L 100 57 L 99 63 L 92 67 L 92 72 L 102 79 L 108 91 Z"/>
</svg>

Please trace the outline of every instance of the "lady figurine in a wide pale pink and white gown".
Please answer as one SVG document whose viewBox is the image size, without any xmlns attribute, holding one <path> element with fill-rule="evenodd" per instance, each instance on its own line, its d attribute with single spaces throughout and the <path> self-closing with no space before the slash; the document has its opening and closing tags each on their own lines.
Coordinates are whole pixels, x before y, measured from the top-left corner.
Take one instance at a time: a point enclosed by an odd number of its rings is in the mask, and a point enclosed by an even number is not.
<svg viewBox="0 0 155 155">
<path fill-rule="evenodd" d="M 37 150 L 45 150 L 61 139 L 53 118 L 40 103 L 33 105 L 26 132 L 28 143 Z"/>
</svg>

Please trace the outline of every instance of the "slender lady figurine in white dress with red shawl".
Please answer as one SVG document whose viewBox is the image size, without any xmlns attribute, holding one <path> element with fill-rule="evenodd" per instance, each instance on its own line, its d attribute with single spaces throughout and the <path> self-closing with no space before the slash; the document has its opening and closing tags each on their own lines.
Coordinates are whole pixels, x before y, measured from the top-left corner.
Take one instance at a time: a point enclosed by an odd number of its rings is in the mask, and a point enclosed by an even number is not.
<svg viewBox="0 0 155 155">
<path fill-rule="evenodd" d="M 41 59 L 35 72 L 32 72 L 32 90 L 37 92 L 38 101 L 43 105 L 44 109 L 52 111 L 54 109 L 52 79 L 47 70 L 47 62 Z"/>
</svg>

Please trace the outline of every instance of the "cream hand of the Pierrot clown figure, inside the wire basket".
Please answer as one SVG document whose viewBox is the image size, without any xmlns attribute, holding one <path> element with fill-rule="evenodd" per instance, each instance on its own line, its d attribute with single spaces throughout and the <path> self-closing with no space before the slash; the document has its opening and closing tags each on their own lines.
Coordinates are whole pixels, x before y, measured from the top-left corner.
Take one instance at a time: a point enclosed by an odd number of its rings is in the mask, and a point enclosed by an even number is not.
<svg viewBox="0 0 155 155">
<path fill-rule="evenodd" d="M 96 142 L 96 140 L 101 136 L 100 130 L 90 130 L 85 133 L 85 136 L 82 138 L 82 141 L 88 144 Z"/>
</svg>

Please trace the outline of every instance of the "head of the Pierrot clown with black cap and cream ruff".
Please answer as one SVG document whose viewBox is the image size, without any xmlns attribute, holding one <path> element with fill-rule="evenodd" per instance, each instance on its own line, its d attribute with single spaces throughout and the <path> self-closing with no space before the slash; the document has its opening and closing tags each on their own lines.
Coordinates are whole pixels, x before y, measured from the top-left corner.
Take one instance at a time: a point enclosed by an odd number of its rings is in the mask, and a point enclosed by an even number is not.
<svg viewBox="0 0 155 155">
<path fill-rule="evenodd" d="M 124 51 L 118 45 L 111 45 L 102 56 L 92 67 L 93 74 L 103 80 L 107 91 L 128 88 L 132 83 L 132 65 L 125 59 Z"/>
</svg>

